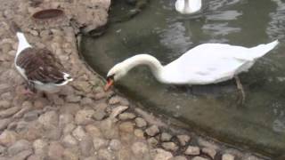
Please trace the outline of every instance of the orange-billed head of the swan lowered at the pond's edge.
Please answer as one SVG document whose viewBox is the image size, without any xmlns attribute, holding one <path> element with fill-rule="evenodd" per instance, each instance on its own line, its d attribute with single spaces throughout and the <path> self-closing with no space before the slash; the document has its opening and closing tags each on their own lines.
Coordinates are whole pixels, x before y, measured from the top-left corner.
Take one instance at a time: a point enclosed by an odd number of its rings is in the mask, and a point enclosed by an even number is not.
<svg viewBox="0 0 285 160">
<path fill-rule="evenodd" d="M 122 78 L 123 76 L 126 76 L 127 69 L 126 65 L 123 63 L 118 63 L 113 68 L 110 69 L 110 71 L 107 74 L 107 84 L 105 85 L 104 90 L 108 91 L 110 87 L 118 81 L 118 79 Z"/>
</svg>

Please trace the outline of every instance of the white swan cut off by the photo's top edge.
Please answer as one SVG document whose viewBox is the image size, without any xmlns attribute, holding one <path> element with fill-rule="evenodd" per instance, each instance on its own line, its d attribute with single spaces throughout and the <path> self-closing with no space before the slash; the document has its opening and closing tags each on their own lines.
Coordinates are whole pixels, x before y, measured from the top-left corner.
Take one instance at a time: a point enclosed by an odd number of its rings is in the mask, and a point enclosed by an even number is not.
<svg viewBox="0 0 285 160">
<path fill-rule="evenodd" d="M 202 7 L 202 0 L 176 0 L 175 9 L 182 14 L 199 12 Z"/>
</svg>

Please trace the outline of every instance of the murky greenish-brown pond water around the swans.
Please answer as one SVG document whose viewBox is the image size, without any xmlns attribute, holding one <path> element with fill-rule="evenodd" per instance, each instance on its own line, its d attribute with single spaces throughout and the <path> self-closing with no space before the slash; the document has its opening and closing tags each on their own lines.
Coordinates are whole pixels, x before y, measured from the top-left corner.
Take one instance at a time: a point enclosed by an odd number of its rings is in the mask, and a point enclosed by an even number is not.
<svg viewBox="0 0 285 160">
<path fill-rule="evenodd" d="M 247 146 L 271 156 L 285 151 L 285 2 L 281 0 L 211 0 L 199 14 L 175 12 L 174 0 L 151 1 L 132 20 L 110 22 L 100 37 L 83 36 L 85 60 L 105 76 L 121 60 L 149 53 L 162 64 L 203 43 L 243 46 L 281 44 L 240 75 L 247 94 L 236 106 L 234 81 L 216 85 L 176 87 L 159 84 L 148 68 L 134 68 L 117 85 L 159 113 L 174 116 L 191 129 L 219 140 Z M 110 21 L 132 8 L 116 1 Z"/>
</svg>

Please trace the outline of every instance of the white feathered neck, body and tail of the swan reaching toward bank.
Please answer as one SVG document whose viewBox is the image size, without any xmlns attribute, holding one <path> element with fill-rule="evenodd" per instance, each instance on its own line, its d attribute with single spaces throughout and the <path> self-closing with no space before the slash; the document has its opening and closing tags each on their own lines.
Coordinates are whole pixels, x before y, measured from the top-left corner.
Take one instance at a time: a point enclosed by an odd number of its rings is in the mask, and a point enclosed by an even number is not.
<svg viewBox="0 0 285 160">
<path fill-rule="evenodd" d="M 278 44 L 259 44 L 246 48 L 230 44 L 200 44 L 180 58 L 162 66 L 156 58 L 139 54 L 118 63 L 108 76 L 118 80 L 135 66 L 147 65 L 154 76 L 164 84 L 216 84 L 248 71 L 255 61 Z"/>
</svg>

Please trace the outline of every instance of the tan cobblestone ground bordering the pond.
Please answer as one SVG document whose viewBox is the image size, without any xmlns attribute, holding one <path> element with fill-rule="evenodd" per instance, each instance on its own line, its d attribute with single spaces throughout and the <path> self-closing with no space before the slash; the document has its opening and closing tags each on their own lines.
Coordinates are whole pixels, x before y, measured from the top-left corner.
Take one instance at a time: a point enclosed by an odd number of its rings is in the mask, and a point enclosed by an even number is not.
<svg viewBox="0 0 285 160">
<path fill-rule="evenodd" d="M 0 160 L 258 160 L 249 152 L 171 128 L 115 92 L 77 54 L 77 28 L 106 23 L 108 0 L 0 0 Z M 61 8 L 56 20 L 32 20 L 34 12 Z M 14 20 L 37 47 L 53 51 L 74 77 L 61 92 L 21 94 L 23 79 L 13 66 Z"/>
</svg>

